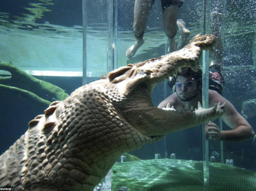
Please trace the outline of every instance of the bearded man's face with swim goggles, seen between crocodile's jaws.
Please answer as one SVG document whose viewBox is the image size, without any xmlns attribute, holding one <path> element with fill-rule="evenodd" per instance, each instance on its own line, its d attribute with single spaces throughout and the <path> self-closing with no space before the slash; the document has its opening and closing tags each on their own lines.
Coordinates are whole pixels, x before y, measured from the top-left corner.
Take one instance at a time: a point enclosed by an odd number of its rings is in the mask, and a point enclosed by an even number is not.
<svg viewBox="0 0 256 191">
<path fill-rule="evenodd" d="M 196 87 L 196 80 L 193 77 L 177 76 L 176 78 L 176 94 L 181 101 L 191 101 L 200 91 L 200 87 Z"/>
</svg>

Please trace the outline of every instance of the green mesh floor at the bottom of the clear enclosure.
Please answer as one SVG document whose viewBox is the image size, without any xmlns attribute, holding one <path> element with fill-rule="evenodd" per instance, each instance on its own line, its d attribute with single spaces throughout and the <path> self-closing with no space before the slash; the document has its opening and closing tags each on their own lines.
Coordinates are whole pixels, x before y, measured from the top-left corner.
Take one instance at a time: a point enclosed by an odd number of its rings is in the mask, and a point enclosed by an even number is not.
<svg viewBox="0 0 256 191">
<path fill-rule="evenodd" d="M 203 163 L 157 159 L 116 163 L 112 167 L 112 190 L 203 190 Z M 210 163 L 211 191 L 256 191 L 256 172 L 221 163 Z"/>
</svg>

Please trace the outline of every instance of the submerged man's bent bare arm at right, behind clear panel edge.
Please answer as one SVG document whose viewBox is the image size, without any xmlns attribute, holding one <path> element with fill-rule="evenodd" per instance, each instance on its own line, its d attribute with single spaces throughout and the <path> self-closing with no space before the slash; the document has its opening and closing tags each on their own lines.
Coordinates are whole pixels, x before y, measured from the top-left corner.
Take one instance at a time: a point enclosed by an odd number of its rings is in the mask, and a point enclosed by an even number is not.
<svg viewBox="0 0 256 191">
<path fill-rule="evenodd" d="M 217 102 L 220 102 L 221 104 L 224 102 L 226 103 L 225 114 L 222 116 L 222 119 L 230 128 L 232 128 L 232 130 L 219 131 L 217 125 L 209 122 L 209 136 L 216 140 L 234 142 L 253 139 L 255 132 L 253 131 L 251 125 L 237 112 L 237 110 L 228 100 L 214 92 L 212 97 L 212 104 Z"/>
</svg>

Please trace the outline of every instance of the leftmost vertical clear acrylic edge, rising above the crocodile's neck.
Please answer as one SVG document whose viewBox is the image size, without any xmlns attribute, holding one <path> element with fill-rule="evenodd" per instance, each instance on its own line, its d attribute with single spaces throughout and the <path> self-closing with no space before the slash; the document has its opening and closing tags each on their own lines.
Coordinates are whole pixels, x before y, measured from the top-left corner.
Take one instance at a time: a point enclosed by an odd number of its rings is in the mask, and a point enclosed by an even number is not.
<svg viewBox="0 0 256 191">
<path fill-rule="evenodd" d="M 87 15 L 86 15 L 86 1 L 83 0 L 83 77 L 82 77 L 82 84 L 86 84 L 87 78 L 87 50 L 86 50 L 86 30 L 87 30 Z"/>
</svg>

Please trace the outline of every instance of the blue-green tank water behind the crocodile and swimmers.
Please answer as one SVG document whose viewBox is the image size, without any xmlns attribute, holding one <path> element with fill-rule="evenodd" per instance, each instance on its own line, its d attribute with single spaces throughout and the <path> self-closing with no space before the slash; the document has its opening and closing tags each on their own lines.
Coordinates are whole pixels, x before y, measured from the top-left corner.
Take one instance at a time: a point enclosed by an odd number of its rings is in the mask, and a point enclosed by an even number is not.
<svg viewBox="0 0 256 191">
<path fill-rule="evenodd" d="M 37 86 L 40 80 L 60 87 L 63 97 L 76 88 L 99 80 L 109 68 L 116 69 L 128 63 L 138 63 L 165 55 L 167 37 L 163 32 L 163 14 L 160 0 L 156 0 L 146 24 L 145 43 L 136 54 L 128 58 L 126 50 L 134 43 L 132 33 L 134 0 L 88 1 L 83 14 L 83 1 L 67 0 L 2 0 L 0 3 L 0 60 L 11 62 L 36 79 L 33 83 L 21 74 L 12 73 L 0 65 L 0 153 L 5 152 L 28 129 L 28 122 L 43 114 L 47 103 L 61 100 L 52 86 Z M 256 131 L 256 5 L 252 0 L 206 0 L 206 33 L 210 32 L 210 12 L 224 14 L 221 27 L 223 41 L 224 97 Z M 113 3 L 113 18 L 109 6 Z M 204 31 L 204 1 L 184 0 L 178 19 L 183 19 L 190 35 L 187 40 Z M 83 18 L 86 25 L 83 26 Z M 84 39 L 86 38 L 86 41 Z M 175 36 L 178 44 L 179 32 Z M 114 43 L 114 49 L 112 49 Z M 86 49 L 84 48 L 86 44 Z M 111 46 L 110 46 L 111 45 Z M 84 61 L 86 52 L 86 63 Z M 111 58 L 110 58 L 111 57 Z M 112 63 L 113 62 L 113 63 Z M 202 65 L 202 64 L 201 64 Z M 86 70 L 84 70 L 86 68 Z M 85 71 L 85 72 L 84 72 Z M 17 80 L 6 81 L 12 75 Z M 5 78 L 5 79 L 4 79 Z M 34 83 L 37 82 L 37 83 Z M 36 85 L 35 85 L 36 84 Z M 29 97 L 25 91 L 10 90 L 17 87 L 31 91 L 47 102 Z M 158 83 L 152 93 L 157 106 L 171 94 L 167 81 Z M 220 126 L 219 121 L 216 123 Z M 230 128 L 223 122 L 223 130 Z M 170 133 L 159 142 L 146 144 L 129 152 L 141 160 L 170 158 L 203 160 L 202 127 Z M 209 157 L 233 159 L 234 166 L 256 171 L 256 146 L 252 140 L 245 142 L 209 141 Z M 200 166 L 201 168 L 201 166 Z M 201 172 L 200 172 L 201 173 Z M 253 174 L 255 176 L 255 174 Z M 203 185 L 203 182 L 199 181 Z M 154 182 L 152 183 L 154 184 Z M 170 183 L 171 184 L 171 183 Z M 175 183 L 177 184 L 177 183 Z"/>
</svg>

